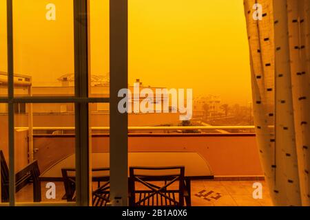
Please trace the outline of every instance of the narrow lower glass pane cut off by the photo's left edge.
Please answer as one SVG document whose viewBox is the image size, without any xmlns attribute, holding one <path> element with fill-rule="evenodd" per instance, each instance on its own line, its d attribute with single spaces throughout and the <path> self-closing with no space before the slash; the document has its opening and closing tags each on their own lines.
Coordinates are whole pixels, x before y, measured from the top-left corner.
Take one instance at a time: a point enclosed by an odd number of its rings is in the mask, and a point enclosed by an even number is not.
<svg viewBox="0 0 310 220">
<path fill-rule="evenodd" d="M 0 203 L 6 203 L 9 200 L 8 195 L 8 104 L 0 103 L 0 156 L 1 156 L 1 185 Z"/>
</svg>

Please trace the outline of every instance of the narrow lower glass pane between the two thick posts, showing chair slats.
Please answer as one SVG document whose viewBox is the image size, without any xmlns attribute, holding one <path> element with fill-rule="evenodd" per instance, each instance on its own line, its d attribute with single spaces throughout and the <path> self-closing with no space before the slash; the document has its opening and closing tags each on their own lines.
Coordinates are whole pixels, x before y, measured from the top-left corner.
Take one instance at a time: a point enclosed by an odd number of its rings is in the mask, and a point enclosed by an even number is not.
<svg viewBox="0 0 310 220">
<path fill-rule="evenodd" d="M 110 111 L 108 103 L 91 103 L 90 170 L 92 170 L 92 206 L 106 206 L 110 196 Z M 103 190 L 101 190 L 103 189 Z M 105 199 L 103 199 L 105 198 Z"/>
</svg>

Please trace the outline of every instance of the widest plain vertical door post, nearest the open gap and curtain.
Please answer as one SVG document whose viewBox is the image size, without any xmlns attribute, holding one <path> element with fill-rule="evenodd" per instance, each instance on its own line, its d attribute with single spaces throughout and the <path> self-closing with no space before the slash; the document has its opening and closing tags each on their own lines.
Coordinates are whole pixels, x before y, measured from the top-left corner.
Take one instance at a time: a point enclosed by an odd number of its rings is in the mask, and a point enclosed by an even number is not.
<svg viewBox="0 0 310 220">
<path fill-rule="evenodd" d="M 118 111 L 118 91 L 128 87 L 127 0 L 110 0 L 110 199 L 127 206 L 128 118 Z"/>
</svg>

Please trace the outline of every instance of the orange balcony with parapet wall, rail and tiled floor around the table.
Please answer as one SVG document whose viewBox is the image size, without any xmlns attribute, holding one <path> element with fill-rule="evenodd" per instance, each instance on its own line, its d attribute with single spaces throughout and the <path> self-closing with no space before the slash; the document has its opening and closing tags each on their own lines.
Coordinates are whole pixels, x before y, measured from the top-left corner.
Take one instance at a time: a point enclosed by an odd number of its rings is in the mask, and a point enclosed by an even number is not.
<svg viewBox="0 0 310 220">
<path fill-rule="evenodd" d="M 128 144 L 130 152 L 196 152 L 199 153 L 214 171 L 215 180 L 194 181 L 192 183 L 192 206 L 271 206 L 267 185 L 263 180 L 258 157 L 253 126 L 132 126 L 129 127 Z M 15 128 L 16 169 L 24 167 L 28 161 L 28 149 L 33 148 L 34 159 L 39 162 L 41 173 L 53 164 L 74 153 L 74 127 L 33 127 L 33 139 L 29 138 L 28 127 Z M 186 131 L 203 133 L 186 133 Z M 220 132 L 219 132 L 220 131 Z M 238 131 L 229 133 L 223 131 Z M 109 152 L 109 127 L 92 127 L 92 152 Z M 183 132 L 183 133 L 180 133 Z M 210 133 L 211 132 L 211 133 Z M 215 133 L 217 132 L 217 133 Z M 29 142 L 32 140 L 32 143 Z M 7 152 L 4 152 L 7 155 Z M 193 162 L 195 163 L 195 162 Z M 252 184 L 256 181 L 264 187 L 263 199 L 253 199 Z M 42 186 L 42 202 L 45 184 Z M 64 195 L 63 183 L 55 183 L 56 199 Z M 203 195 L 206 195 L 204 199 Z M 32 199 L 32 186 L 17 192 L 17 202 Z M 215 199 L 214 199 L 215 198 Z M 218 199 L 216 199 L 218 198 Z"/>
</svg>

